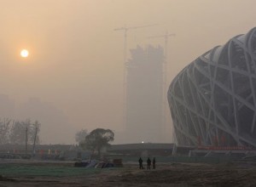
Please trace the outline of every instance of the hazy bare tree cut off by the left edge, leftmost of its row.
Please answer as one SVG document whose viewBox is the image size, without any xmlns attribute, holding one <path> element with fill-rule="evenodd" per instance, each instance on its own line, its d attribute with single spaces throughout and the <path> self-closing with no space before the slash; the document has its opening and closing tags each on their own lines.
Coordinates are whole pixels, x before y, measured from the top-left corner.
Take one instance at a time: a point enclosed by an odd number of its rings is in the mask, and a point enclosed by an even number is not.
<svg viewBox="0 0 256 187">
<path fill-rule="evenodd" d="M 9 118 L 0 119 L 0 144 L 9 143 L 9 129 L 12 120 Z"/>
</svg>

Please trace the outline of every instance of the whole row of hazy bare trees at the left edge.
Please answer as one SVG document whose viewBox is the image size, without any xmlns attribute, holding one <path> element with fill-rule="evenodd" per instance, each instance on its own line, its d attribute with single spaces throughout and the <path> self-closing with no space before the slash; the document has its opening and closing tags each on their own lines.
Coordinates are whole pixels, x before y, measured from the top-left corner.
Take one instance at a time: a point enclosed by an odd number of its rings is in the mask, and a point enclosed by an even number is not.
<svg viewBox="0 0 256 187">
<path fill-rule="evenodd" d="M 39 144 L 39 131 L 41 124 L 32 122 L 15 121 L 9 118 L 0 118 L 0 144 Z"/>
</svg>

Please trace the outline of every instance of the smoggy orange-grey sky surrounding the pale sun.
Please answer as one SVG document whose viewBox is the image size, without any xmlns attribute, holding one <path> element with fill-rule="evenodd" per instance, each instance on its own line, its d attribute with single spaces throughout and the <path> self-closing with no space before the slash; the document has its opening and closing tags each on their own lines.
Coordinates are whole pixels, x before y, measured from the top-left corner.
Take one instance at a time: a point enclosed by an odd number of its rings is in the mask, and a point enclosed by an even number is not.
<svg viewBox="0 0 256 187">
<path fill-rule="evenodd" d="M 81 128 L 122 130 L 124 32 L 115 28 L 158 24 L 128 31 L 128 48 L 164 45 L 163 38 L 147 37 L 176 34 L 168 46 L 169 84 L 196 57 L 256 26 L 255 0 L 0 3 L 0 94 L 16 103 L 39 98 L 63 111 L 70 133 L 53 143 L 72 143 L 66 139 Z M 30 51 L 29 58 L 20 58 L 22 48 Z M 41 128 L 44 132 L 44 124 Z"/>
</svg>

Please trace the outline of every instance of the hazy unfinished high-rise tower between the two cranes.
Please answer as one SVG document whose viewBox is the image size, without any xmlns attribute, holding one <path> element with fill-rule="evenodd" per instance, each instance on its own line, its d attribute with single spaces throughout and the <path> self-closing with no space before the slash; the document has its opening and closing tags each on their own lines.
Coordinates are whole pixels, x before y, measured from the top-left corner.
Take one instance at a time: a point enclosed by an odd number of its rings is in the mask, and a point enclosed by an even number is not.
<svg viewBox="0 0 256 187">
<path fill-rule="evenodd" d="M 137 142 L 159 142 L 164 119 L 161 47 L 131 49 L 126 65 L 126 134 Z"/>
</svg>

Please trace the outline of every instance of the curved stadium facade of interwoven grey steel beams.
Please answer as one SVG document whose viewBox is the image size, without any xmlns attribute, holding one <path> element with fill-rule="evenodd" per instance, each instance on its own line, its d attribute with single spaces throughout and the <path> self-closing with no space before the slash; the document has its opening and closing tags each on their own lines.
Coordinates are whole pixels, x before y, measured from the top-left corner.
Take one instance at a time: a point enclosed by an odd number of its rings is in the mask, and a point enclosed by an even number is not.
<svg viewBox="0 0 256 187">
<path fill-rule="evenodd" d="M 186 66 L 168 102 L 177 144 L 256 147 L 256 27 Z"/>
</svg>

